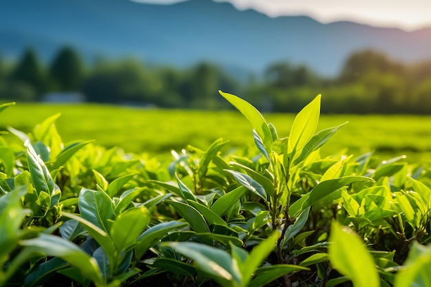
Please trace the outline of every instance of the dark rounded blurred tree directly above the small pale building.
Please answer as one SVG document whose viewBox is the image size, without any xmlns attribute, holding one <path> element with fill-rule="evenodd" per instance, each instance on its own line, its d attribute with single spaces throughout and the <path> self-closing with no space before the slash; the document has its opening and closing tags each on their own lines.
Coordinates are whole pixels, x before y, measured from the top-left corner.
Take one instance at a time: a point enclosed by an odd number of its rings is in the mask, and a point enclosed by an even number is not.
<svg viewBox="0 0 431 287">
<path fill-rule="evenodd" d="M 50 76 L 54 87 L 61 91 L 81 89 L 84 68 L 81 57 L 72 47 L 63 47 L 52 61 Z"/>
</svg>

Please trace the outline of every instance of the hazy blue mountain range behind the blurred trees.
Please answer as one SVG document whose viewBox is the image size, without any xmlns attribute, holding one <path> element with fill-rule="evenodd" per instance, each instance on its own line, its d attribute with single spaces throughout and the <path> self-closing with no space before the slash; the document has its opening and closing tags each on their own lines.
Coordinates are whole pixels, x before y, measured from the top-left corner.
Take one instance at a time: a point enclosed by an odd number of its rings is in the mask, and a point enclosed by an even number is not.
<svg viewBox="0 0 431 287">
<path fill-rule="evenodd" d="M 431 59 L 431 28 L 406 32 L 309 17 L 270 18 L 231 3 L 189 0 L 151 5 L 127 0 L 2 0 L 0 55 L 17 59 L 27 46 L 50 61 L 62 45 L 86 59 L 135 56 L 187 66 L 213 61 L 262 72 L 275 61 L 306 64 L 334 76 L 346 58 L 367 48 L 412 63 Z"/>
</svg>

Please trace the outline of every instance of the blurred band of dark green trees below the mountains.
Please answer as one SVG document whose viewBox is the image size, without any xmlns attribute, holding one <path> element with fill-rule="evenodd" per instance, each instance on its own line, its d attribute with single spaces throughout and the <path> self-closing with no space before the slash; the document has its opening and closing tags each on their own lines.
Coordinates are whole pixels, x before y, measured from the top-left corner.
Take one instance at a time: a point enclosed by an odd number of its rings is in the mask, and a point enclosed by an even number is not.
<svg viewBox="0 0 431 287">
<path fill-rule="evenodd" d="M 134 59 L 91 66 L 72 47 L 51 63 L 26 50 L 17 63 L 0 58 L 0 99 L 44 100 L 52 92 L 79 92 L 95 103 L 154 105 L 192 109 L 229 107 L 218 94 L 238 94 L 262 111 L 296 112 L 323 94 L 324 113 L 429 114 L 431 61 L 407 65 L 365 50 L 344 63 L 338 76 L 324 78 L 304 65 L 274 63 L 246 80 L 213 63 L 188 68 L 150 66 Z"/>
</svg>

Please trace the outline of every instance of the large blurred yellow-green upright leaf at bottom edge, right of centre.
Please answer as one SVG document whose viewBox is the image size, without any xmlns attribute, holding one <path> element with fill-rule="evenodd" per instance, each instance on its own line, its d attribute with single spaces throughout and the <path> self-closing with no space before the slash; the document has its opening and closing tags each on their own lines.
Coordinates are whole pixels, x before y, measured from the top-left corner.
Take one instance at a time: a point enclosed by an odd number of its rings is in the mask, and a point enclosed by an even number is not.
<svg viewBox="0 0 431 287">
<path fill-rule="evenodd" d="M 357 234 L 333 222 L 329 240 L 330 263 L 339 273 L 352 280 L 355 287 L 380 286 L 374 259 Z"/>
</svg>

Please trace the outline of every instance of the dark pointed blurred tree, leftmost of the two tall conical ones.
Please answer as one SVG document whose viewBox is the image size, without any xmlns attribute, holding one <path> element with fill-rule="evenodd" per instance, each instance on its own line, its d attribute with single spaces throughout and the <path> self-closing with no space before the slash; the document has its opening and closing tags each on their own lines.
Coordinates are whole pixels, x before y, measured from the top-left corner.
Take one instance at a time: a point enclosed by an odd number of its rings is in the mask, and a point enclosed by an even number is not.
<svg viewBox="0 0 431 287">
<path fill-rule="evenodd" d="M 38 96 L 45 92 L 45 75 L 34 50 L 30 48 L 25 50 L 12 71 L 11 79 L 32 86 Z"/>
</svg>

